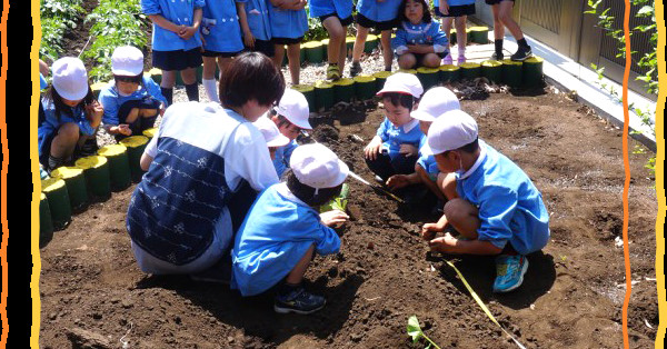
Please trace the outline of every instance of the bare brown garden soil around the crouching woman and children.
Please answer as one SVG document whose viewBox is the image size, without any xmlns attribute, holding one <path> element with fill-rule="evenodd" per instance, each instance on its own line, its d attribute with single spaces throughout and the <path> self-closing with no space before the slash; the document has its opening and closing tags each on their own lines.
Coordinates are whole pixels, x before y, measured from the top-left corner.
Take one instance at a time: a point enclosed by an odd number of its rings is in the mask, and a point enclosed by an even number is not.
<svg viewBox="0 0 667 349">
<path fill-rule="evenodd" d="M 515 160 L 542 191 L 552 239 L 542 252 L 529 256 L 525 283 L 509 295 L 490 291 L 491 258 L 448 258 L 527 347 L 620 347 L 625 276 L 615 239 L 623 227 L 621 132 L 561 94 L 491 93 L 486 100 L 466 100 L 462 108 L 478 120 L 481 138 Z M 361 149 L 381 118 L 372 110 L 364 122 L 341 127 L 336 121 L 335 129 L 313 133 L 370 180 Z M 634 348 L 651 347 L 658 326 L 657 205 L 651 174 L 644 168 L 647 158 L 630 154 Z M 428 253 L 418 231 L 437 219 L 430 210 L 400 206 L 348 182 L 352 220 L 341 252 L 316 258 L 307 272 L 308 286 L 328 299 L 320 312 L 279 316 L 270 296 L 241 298 L 187 277 L 142 275 L 125 230 L 130 188 L 74 217 L 42 250 L 41 347 L 72 347 L 68 338 L 80 333 L 99 335 L 120 347 L 130 328 L 126 339 L 131 348 L 411 347 L 406 335 L 411 315 L 442 348 L 516 347 L 444 259 Z"/>
</svg>

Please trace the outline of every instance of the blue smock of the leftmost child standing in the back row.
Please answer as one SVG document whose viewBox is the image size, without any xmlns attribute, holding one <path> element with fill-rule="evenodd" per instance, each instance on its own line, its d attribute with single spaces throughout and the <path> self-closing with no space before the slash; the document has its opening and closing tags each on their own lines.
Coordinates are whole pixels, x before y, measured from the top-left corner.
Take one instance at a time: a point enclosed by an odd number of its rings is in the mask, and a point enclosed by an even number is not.
<svg viewBox="0 0 667 349">
<path fill-rule="evenodd" d="M 203 8 L 205 0 L 141 0 L 141 12 L 146 16 L 160 14 L 177 26 L 192 26 L 195 9 Z M 192 50 L 201 46 L 196 33 L 183 40 L 176 32 L 153 23 L 152 48 L 156 51 Z"/>
</svg>

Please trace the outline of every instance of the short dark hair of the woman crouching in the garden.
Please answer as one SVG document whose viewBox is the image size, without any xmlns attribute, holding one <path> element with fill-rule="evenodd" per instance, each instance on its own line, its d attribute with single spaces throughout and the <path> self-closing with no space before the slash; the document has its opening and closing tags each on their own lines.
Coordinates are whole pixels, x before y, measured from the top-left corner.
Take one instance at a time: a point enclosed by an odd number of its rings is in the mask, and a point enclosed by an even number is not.
<svg viewBox="0 0 667 349">
<path fill-rule="evenodd" d="M 249 100 L 271 106 L 285 91 L 285 78 L 273 61 L 259 52 L 237 56 L 220 79 L 222 106 L 241 107 Z"/>
</svg>

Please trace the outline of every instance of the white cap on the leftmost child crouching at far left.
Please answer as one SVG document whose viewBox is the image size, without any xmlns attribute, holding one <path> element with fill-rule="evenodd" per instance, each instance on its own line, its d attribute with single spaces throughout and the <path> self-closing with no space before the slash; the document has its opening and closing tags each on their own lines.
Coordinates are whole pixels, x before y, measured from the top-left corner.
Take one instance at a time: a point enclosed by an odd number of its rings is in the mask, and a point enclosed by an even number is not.
<svg viewBox="0 0 667 349">
<path fill-rule="evenodd" d="M 80 59 L 63 57 L 53 62 L 51 73 L 51 83 L 60 97 L 73 101 L 88 94 L 88 72 Z"/>
</svg>

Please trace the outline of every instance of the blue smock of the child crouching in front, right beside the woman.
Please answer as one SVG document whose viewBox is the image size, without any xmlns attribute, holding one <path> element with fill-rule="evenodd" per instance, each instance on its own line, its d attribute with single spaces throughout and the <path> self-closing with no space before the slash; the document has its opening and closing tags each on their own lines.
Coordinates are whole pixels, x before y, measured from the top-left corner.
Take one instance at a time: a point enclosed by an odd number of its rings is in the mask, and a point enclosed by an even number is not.
<svg viewBox="0 0 667 349">
<path fill-rule="evenodd" d="M 295 197 L 286 183 L 261 192 L 236 236 L 231 288 L 243 296 L 261 293 L 282 280 L 315 245 L 336 253 L 340 238 L 319 213 Z"/>
</svg>

